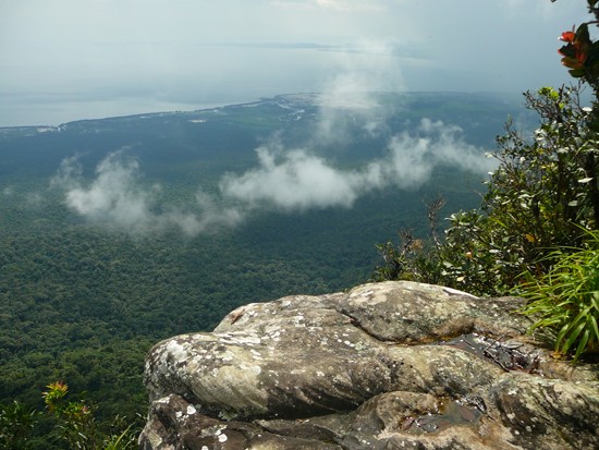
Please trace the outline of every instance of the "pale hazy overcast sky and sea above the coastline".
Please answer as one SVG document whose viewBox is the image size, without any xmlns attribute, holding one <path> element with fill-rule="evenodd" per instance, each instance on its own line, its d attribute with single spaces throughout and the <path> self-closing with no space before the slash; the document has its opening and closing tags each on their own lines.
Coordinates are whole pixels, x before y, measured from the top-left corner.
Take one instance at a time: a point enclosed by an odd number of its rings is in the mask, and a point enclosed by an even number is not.
<svg viewBox="0 0 599 450">
<path fill-rule="evenodd" d="M 558 0 L 0 0 L 0 126 L 298 92 L 569 82 Z"/>
</svg>

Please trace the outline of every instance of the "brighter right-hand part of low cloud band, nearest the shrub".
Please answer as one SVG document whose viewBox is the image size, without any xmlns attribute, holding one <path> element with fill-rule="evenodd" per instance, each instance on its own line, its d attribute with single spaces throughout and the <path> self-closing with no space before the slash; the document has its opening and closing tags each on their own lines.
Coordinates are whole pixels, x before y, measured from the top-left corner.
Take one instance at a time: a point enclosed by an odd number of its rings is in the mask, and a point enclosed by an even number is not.
<svg viewBox="0 0 599 450">
<path fill-rule="evenodd" d="M 256 153 L 259 167 L 223 177 L 221 195 L 246 208 L 285 211 L 351 207 L 372 190 L 419 187 L 438 167 L 482 174 L 494 165 L 480 148 L 464 142 L 460 127 L 429 119 L 413 133 L 392 136 L 384 157 L 357 170 L 335 168 L 306 149 L 285 150 L 279 143 Z"/>
</svg>

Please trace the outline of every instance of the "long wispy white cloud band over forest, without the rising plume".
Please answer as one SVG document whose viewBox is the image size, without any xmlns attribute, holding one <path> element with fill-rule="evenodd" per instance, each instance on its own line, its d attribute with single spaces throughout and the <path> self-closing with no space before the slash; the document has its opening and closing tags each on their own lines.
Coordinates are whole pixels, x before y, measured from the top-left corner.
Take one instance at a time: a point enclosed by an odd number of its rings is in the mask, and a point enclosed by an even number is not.
<svg viewBox="0 0 599 450">
<path fill-rule="evenodd" d="M 416 188 L 436 168 L 484 174 L 492 160 L 463 139 L 462 130 L 424 119 L 412 132 L 390 137 L 386 153 L 356 169 L 342 169 L 307 148 L 285 148 L 273 138 L 256 149 L 257 167 L 227 173 L 218 192 L 200 188 L 183 206 L 160 202 L 161 187 L 143 180 L 138 160 L 110 154 L 84 183 L 76 158 L 65 159 L 52 180 L 64 203 L 85 219 L 132 234 L 179 230 L 185 235 L 235 227 L 258 210 L 284 212 L 350 208 L 365 194 L 392 186 Z"/>
</svg>

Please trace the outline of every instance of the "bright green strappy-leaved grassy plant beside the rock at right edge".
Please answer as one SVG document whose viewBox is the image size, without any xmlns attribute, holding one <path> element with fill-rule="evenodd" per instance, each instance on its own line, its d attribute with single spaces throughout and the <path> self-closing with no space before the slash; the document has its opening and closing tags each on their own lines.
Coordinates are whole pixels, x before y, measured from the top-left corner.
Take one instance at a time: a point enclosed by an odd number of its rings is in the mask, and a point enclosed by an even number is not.
<svg viewBox="0 0 599 450">
<path fill-rule="evenodd" d="M 553 333 L 555 351 L 575 351 L 573 362 L 583 352 L 599 350 L 599 231 L 588 234 L 585 248 L 554 252 L 549 273 L 529 281 L 525 296 L 530 303 L 523 308 L 536 318 L 533 330 Z"/>
</svg>

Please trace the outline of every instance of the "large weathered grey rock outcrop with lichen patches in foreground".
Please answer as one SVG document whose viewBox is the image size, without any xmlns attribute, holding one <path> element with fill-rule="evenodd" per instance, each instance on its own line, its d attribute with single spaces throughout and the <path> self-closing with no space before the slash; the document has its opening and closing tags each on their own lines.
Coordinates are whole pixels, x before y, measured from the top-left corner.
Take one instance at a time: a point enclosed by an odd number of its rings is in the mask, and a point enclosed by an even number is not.
<svg viewBox="0 0 599 450">
<path fill-rule="evenodd" d="M 596 366 L 530 342 L 521 302 L 384 282 L 240 307 L 151 350 L 140 448 L 599 448 Z"/>
</svg>

